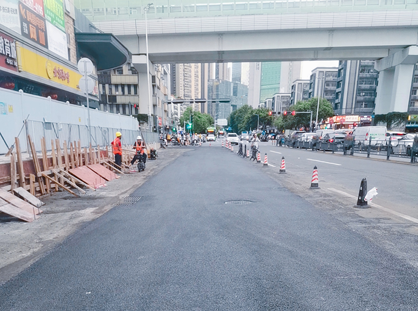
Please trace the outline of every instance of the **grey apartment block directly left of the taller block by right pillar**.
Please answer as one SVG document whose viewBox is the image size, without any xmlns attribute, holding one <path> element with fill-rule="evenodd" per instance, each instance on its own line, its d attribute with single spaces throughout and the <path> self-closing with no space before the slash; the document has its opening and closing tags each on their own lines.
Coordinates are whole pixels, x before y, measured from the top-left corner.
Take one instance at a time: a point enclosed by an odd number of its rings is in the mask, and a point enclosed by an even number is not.
<svg viewBox="0 0 418 311">
<path fill-rule="evenodd" d="M 309 98 L 321 97 L 327 99 L 333 106 L 337 88 L 338 68 L 317 67 L 312 70 L 309 81 Z"/>
</svg>

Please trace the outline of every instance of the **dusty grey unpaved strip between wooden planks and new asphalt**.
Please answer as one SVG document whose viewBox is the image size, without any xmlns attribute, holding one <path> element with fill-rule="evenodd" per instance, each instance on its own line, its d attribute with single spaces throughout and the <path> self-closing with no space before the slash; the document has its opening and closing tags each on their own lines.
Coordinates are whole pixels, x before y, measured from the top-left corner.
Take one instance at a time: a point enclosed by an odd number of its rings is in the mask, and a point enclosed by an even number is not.
<svg viewBox="0 0 418 311">
<path fill-rule="evenodd" d="M 43 197 L 45 206 L 33 223 L 2 214 L 0 218 L 0 284 L 17 275 L 70 234 L 111 209 L 190 148 L 170 147 L 158 151 L 157 160 L 147 160 L 141 173 L 122 175 L 106 187 L 75 198 L 68 192 Z"/>
</svg>

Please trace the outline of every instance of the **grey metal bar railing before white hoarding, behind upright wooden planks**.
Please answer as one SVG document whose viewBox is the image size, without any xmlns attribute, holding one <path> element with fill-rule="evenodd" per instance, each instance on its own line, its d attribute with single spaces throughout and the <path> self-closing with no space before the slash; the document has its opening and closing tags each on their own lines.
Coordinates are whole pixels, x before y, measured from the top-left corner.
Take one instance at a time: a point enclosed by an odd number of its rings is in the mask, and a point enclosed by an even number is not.
<svg viewBox="0 0 418 311">
<path fill-rule="evenodd" d="M 93 146 L 108 146 L 118 131 L 122 133 L 123 145 L 133 144 L 138 135 L 141 135 L 146 143 L 159 141 L 158 133 L 154 132 L 91 126 L 91 144 Z M 26 123 L 26 133 L 31 136 L 36 151 L 41 151 L 42 137 L 45 138 L 47 150 L 51 150 L 51 140 L 55 139 L 59 139 L 61 143 L 66 141 L 67 147 L 70 147 L 70 142 L 78 140 L 81 142 L 81 147 L 88 147 L 90 145 L 87 125 L 28 120 Z"/>
</svg>

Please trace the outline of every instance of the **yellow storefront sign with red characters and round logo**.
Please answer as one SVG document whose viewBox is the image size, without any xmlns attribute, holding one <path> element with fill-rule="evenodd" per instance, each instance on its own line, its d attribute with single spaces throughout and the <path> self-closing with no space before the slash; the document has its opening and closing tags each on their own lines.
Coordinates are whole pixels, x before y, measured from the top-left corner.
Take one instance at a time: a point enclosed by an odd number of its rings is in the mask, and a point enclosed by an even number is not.
<svg viewBox="0 0 418 311">
<path fill-rule="evenodd" d="M 26 71 L 53 82 L 69 86 L 79 90 L 78 81 L 82 75 L 76 71 L 49 60 L 48 58 L 36 54 L 28 49 L 19 47 L 18 68 L 19 71 Z"/>
</svg>

